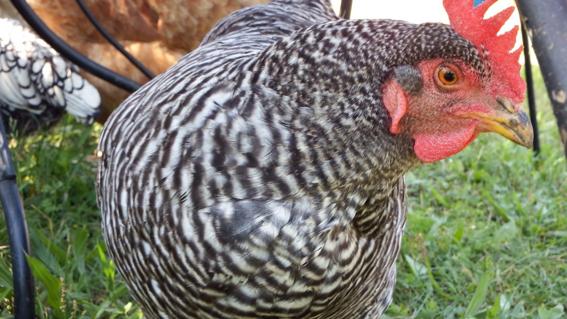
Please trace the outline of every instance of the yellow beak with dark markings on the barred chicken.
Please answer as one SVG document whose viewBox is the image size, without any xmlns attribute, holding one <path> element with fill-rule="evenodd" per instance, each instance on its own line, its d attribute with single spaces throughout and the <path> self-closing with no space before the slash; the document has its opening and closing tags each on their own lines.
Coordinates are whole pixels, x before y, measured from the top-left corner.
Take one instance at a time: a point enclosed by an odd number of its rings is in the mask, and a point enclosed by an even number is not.
<svg viewBox="0 0 567 319">
<path fill-rule="evenodd" d="M 489 113 L 473 113 L 472 117 L 480 120 L 478 129 L 498 133 L 510 141 L 527 148 L 534 142 L 534 129 L 530 118 L 522 110 L 506 99 L 497 99 Z"/>
</svg>

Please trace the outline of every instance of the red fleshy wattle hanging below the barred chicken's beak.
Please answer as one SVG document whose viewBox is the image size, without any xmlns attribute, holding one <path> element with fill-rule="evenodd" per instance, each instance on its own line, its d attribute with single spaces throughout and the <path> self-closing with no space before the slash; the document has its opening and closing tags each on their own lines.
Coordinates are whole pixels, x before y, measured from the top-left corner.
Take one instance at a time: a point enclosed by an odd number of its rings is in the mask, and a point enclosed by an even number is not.
<svg viewBox="0 0 567 319">
<path fill-rule="evenodd" d="M 416 143 L 413 150 L 417 158 L 425 163 L 442 160 L 455 155 L 467 147 L 479 134 L 477 124 L 471 124 L 445 133 L 431 132 L 414 134 Z"/>
</svg>

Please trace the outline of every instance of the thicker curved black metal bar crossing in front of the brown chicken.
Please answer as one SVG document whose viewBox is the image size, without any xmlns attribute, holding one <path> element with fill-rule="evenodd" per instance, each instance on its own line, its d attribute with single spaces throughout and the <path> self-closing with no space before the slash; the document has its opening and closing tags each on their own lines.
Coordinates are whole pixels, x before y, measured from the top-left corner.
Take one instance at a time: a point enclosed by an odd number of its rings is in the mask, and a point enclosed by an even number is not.
<svg viewBox="0 0 567 319">
<path fill-rule="evenodd" d="M 141 84 L 134 82 L 114 71 L 111 71 L 98 63 L 92 62 L 87 57 L 78 53 L 71 48 L 65 41 L 61 40 L 47 25 L 33 12 L 32 8 L 26 3 L 25 0 L 11 0 L 12 4 L 20 14 L 26 19 L 27 23 L 37 32 L 37 34 L 45 40 L 53 49 L 61 53 L 62 56 L 75 63 L 83 70 L 90 72 L 99 78 L 114 84 L 117 87 L 123 88 L 126 91 L 134 92 L 141 87 Z"/>
</svg>

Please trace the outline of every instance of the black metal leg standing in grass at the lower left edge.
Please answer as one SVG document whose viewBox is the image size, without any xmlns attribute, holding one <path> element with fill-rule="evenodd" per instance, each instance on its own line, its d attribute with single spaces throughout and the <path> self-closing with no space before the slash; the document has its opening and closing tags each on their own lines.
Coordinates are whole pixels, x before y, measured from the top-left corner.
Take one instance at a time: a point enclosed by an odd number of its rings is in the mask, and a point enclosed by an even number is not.
<svg viewBox="0 0 567 319">
<path fill-rule="evenodd" d="M 6 130 L 0 114 L 0 202 L 6 218 L 6 228 L 12 258 L 14 279 L 14 317 L 35 318 L 33 276 L 26 260 L 29 254 L 29 235 L 22 199 L 16 185 L 16 171 L 8 147 Z"/>
</svg>

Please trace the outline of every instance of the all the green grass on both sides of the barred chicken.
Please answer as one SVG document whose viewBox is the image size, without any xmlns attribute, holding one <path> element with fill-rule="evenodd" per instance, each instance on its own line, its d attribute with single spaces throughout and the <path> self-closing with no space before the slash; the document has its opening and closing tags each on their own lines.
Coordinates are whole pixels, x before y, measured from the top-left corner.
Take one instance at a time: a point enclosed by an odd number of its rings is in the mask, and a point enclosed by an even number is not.
<svg viewBox="0 0 567 319">
<path fill-rule="evenodd" d="M 408 175 L 409 216 L 387 318 L 566 316 L 567 164 L 536 74 L 543 149 L 496 135 Z M 67 118 L 11 150 L 29 224 L 40 318 L 141 318 L 105 253 L 92 154 L 100 126 Z M 0 221 L 0 317 L 12 317 Z"/>
</svg>

